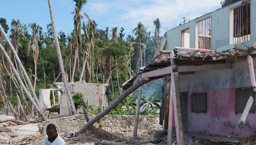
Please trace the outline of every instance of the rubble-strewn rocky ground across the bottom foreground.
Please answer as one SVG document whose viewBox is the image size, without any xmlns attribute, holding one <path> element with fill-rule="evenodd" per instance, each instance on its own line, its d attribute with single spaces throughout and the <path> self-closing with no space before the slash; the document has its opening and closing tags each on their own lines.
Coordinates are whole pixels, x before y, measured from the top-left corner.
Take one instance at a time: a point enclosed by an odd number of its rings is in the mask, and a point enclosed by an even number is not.
<svg viewBox="0 0 256 145">
<path fill-rule="evenodd" d="M 0 115 L 0 119 L 15 119 L 13 116 Z M 35 123 L 37 118 L 30 119 L 32 123 L 27 125 L 9 126 L 11 131 L 0 132 L 0 145 L 43 145 L 44 136 L 38 132 L 38 124 Z M 6 126 L 4 123 L 0 123 L 0 126 Z M 11 137 L 15 134 L 17 137 Z M 138 132 L 136 140 L 132 139 L 133 132 L 119 132 L 116 133 L 120 137 L 119 141 L 126 144 L 136 145 L 166 145 L 167 144 L 167 131 L 163 131 L 163 126 L 159 125 L 159 119 L 155 122 L 148 124 L 148 128 Z M 84 136 L 67 138 L 67 135 L 62 136 L 66 144 L 76 145 L 95 145 L 95 143 L 102 142 L 96 139 L 94 136 L 88 134 Z M 209 136 L 211 137 L 211 136 Z M 214 136 L 213 136 L 214 137 Z M 172 133 L 172 145 L 176 145 L 176 133 Z M 234 143 L 227 142 L 212 142 L 210 139 L 200 139 L 191 134 L 184 134 L 185 145 L 235 145 Z"/>
</svg>

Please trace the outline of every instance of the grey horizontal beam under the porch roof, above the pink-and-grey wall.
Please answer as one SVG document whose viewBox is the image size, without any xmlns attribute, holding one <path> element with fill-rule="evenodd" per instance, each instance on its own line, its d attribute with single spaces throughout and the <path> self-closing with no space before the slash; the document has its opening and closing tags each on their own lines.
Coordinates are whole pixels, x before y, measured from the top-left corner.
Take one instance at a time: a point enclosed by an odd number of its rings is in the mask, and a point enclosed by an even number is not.
<svg viewBox="0 0 256 145">
<path fill-rule="evenodd" d="M 178 66 L 178 72 L 232 69 L 233 64 L 208 64 L 201 66 Z"/>
</svg>

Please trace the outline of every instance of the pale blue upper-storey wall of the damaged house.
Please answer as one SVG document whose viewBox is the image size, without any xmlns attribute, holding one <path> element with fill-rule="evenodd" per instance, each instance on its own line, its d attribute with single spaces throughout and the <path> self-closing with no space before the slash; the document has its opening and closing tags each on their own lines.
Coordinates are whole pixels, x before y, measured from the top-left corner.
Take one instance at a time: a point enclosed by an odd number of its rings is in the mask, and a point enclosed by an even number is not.
<svg viewBox="0 0 256 145">
<path fill-rule="evenodd" d="M 185 23 L 181 26 L 177 26 L 167 32 L 166 49 L 171 50 L 175 46 L 181 47 L 181 31 L 189 28 L 190 32 L 190 48 L 196 47 L 196 22 L 206 17 L 211 16 L 212 23 L 212 49 L 218 51 L 224 51 L 233 48 L 233 44 L 230 45 L 230 9 L 241 4 L 242 1 L 234 3 L 230 6 L 218 9 L 215 12 L 205 14 Z M 256 39 L 256 1 L 251 0 L 251 40 L 244 42 L 247 46 L 252 46 L 253 41 Z M 239 44 L 239 48 L 245 48 L 243 44 Z"/>
</svg>

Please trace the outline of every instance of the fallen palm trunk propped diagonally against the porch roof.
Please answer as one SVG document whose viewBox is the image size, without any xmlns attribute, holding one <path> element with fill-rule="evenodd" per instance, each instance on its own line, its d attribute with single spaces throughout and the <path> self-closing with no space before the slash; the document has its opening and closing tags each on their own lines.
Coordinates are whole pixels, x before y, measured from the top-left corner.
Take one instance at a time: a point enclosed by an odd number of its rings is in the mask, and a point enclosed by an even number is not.
<svg viewBox="0 0 256 145">
<path fill-rule="evenodd" d="M 77 133 L 76 135 L 83 133 L 88 128 L 92 127 L 93 124 L 105 115 L 107 115 L 111 110 L 113 110 L 122 100 L 124 100 L 129 94 L 134 92 L 137 88 L 142 86 L 143 84 L 147 83 L 149 81 L 148 77 L 145 77 L 138 81 L 136 84 L 131 86 L 128 90 L 126 90 L 124 93 L 122 93 L 110 106 L 108 106 L 105 110 L 103 110 L 101 113 L 99 113 L 97 116 L 95 116 L 93 119 L 91 119 L 87 124 L 85 124 Z"/>
</svg>

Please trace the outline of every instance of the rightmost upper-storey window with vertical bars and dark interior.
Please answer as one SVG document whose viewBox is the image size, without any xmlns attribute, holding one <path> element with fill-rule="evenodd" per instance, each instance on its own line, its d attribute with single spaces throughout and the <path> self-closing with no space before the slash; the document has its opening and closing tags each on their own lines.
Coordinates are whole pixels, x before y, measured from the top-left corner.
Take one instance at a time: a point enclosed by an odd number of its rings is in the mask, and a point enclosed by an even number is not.
<svg viewBox="0 0 256 145">
<path fill-rule="evenodd" d="M 250 3 L 233 8 L 233 44 L 251 40 Z"/>
</svg>

